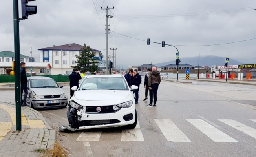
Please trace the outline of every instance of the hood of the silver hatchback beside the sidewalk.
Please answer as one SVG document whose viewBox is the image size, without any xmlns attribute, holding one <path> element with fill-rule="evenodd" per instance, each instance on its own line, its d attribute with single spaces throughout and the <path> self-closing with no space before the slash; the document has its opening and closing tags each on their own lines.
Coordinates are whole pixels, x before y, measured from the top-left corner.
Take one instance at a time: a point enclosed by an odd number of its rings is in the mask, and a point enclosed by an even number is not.
<svg viewBox="0 0 256 157">
<path fill-rule="evenodd" d="M 60 88 L 31 88 L 31 90 L 37 95 L 60 95 L 65 93 Z"/>
</svg>

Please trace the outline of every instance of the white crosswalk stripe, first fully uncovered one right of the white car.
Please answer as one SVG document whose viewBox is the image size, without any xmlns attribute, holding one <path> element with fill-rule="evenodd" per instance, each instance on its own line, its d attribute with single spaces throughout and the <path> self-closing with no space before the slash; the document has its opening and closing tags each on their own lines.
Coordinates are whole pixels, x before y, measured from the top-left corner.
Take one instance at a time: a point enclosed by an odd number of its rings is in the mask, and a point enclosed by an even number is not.
<svg viewBox="0 0 256 157">
<path fill-rule="evenodd" d="M 188 137 L 170 120 L 154 119 L 167 141 L 171 142 L 191 142 Z"/>
</svg>

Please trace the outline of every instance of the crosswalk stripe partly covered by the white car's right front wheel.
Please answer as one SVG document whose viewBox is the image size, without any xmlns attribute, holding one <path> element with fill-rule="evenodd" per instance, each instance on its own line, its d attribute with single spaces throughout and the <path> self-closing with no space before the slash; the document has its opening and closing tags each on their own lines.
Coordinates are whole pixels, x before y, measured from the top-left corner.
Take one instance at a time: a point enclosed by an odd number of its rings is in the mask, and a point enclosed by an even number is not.
<svg viewBox="0 0 256 157">
<path fill-rule="evenodd" d="M 121 141 L 144 141 L 139 120 L 137 120 L 137 125 L 134 129 L 122 130 Z"/>
</svg>

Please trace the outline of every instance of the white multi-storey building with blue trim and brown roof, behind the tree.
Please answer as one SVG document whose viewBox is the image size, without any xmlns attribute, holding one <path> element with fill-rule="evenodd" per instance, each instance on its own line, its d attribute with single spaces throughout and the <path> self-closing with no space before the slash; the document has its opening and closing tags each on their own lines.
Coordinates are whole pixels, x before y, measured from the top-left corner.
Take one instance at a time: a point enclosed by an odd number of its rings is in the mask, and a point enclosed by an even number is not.
<svg viewBox="0 0 256 157">
<path fill-rule="evenodd" d="M 52 65 L 51 75 L 71 73 L 73 70 L 71 66 L 77 65 L 75 63 L 77 61 L 75 56 L 80 55 L 82 47 L 82 45 L 73 43 L 38 49 L 40 62 L 49 62 Z M 91 49 L 91 51 L 95 53 L 93 58 L 102 60 L 103 55 L 101 51 L 96 49 Z"/>
</svg>

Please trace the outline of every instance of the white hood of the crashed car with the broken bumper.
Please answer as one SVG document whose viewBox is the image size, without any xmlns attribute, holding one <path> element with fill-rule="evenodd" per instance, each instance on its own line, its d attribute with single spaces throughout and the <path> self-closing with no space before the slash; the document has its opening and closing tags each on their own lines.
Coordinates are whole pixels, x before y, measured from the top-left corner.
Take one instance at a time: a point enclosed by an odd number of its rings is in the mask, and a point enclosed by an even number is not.
<svg viewBox="0 0 256 157">
<path fill-rule="evenodd" d="M 131 91 L 118 90 L 83 90 L 75 91 L 75 99 L 87 101 L 102 101 L 102 100 L 123 100 L 129 97 Z"/>
</svg>

